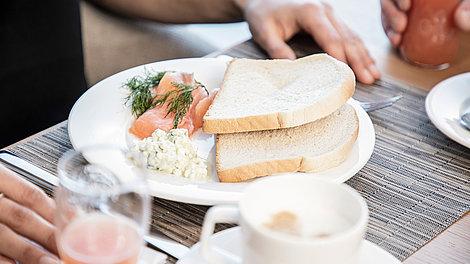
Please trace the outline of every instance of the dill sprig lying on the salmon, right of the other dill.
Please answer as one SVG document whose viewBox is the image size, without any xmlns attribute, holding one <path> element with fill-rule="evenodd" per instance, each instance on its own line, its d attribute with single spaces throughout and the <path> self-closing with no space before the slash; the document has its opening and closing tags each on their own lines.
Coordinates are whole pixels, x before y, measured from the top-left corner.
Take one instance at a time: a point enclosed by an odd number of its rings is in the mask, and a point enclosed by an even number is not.
<svg viewBox="0 0 470 264">
<path fill-rule="evenodd" d="M 174 114 L 173 128 L 177 128 L 181 119 L 186 115 L 193 103 L 192 92 L 199 87 L 199 85 L 190 85 L 184 83 L 171 83 L 176 89 L 168 91 L 162 95 L 155 97 L 155 106 L 164 105 L 168 102 L 168 111 L 166 116 L 170 113 Z"/>
</svg>

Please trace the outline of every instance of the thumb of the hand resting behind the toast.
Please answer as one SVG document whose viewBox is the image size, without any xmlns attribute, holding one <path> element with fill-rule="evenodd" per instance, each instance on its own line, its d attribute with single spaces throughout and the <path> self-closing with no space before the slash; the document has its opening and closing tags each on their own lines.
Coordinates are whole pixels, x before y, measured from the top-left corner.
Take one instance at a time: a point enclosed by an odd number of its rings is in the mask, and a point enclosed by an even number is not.
<svg viewBox="0 0 470 264">
<path fill-rule="evenodd" d="M 282 39 L 274 22 L 265 22 L 258 26 L 259 29 L 252 29 L 253 39 L 266 50 L 271 58 L 291 60 L 296 58 L 294 51 Z"/>
</svg>

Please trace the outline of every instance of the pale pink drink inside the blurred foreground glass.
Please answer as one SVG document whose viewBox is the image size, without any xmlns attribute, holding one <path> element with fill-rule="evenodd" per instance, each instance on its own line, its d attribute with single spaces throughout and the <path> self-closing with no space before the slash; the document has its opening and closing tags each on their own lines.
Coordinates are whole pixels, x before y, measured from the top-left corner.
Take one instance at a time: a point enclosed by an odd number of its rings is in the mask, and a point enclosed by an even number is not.
<svg viewBox="0 0 470 264">
<path fill-rule="evenodd" d="M 131 221 L 94 213 L 62 231 L 59 253 L 64 264 L 135 264 L 142 244 Z"/>
</svg>

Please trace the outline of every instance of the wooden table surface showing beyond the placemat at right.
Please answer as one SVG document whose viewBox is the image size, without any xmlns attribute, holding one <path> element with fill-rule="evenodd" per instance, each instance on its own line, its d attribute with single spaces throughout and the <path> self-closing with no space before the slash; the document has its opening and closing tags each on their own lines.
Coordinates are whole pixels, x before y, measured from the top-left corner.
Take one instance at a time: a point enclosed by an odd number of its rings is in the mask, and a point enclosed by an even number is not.
<svg viewBox="0 0 470 264">
<path fill-rule="evenodd" d="M 444 0 L 443 0 L 444 1 Z M 470 71 L 470 34 L 462 34 L 457 60 L 443 71 L 423 69 L 402 61 L 382 30 L 379 0 L 330 0 L 337 15 L 363 39 L 384 78 L 393 78 L 429 91 L 438 82 Z M 470 213 L 404 261 L 406 264 L 470 263 Z"/>
</svg>

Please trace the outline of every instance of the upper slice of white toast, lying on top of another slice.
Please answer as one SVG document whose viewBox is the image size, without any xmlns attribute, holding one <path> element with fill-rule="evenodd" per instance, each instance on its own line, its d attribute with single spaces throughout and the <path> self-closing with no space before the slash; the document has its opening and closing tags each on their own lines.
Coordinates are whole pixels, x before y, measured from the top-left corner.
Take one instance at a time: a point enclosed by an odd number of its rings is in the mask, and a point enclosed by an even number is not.
<svg viewBox="0 0 470 264">
<path fill-rule="evenodd" d="M 221 134 L 303 125 L 339 109 L 354 88 L 352 70 L 326 54 L 294 61 L 234 59 L 203 130 Z"/>
</svg>

